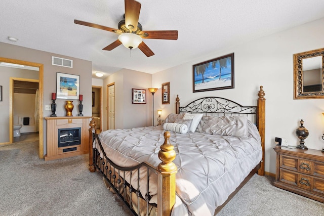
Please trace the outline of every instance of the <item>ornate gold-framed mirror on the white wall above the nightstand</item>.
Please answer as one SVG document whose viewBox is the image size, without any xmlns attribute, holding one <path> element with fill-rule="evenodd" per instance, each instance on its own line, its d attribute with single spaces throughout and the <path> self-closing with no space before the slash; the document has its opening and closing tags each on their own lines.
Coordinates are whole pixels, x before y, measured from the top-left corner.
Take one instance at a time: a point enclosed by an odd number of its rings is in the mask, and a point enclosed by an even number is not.
<svg viewBox="0 0 324 216">
<path fill-rule="evenodd" d="M 294 54 L 294 99 L 324 98 L 324 48 Z"/>
</svg>

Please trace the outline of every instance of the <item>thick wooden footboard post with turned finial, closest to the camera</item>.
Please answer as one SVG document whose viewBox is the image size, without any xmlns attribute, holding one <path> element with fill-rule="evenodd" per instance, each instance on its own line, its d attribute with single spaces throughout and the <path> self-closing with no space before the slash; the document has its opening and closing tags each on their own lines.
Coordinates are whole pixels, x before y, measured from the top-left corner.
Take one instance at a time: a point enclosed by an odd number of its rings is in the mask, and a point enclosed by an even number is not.
<svg viewBox="0 0 324 216">
<path fill-rule="evenodd" d="M 176 158 L 173 145 L 170 144 L 170 132 L 164 133 L 164 144 L 160 146 L 158 158 L 162 161 L 157 166 L 157 215 L 170 216 L 176 202 L 176 164 L 172 161 Z"/>
</svg>

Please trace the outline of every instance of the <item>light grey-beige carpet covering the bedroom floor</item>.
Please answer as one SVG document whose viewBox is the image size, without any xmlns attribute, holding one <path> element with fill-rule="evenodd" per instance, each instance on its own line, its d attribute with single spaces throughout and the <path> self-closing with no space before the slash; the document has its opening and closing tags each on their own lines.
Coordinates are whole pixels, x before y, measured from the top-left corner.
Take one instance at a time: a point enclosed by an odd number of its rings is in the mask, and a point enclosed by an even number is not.
<svg viewBox="0 0 324 216">
<path fill-rule="evenodd" d="M 0 215 L 131 215 L 88 170 L 88 154 L 44 161 L 37 150 L 37 142 L 0 146 Z M 255 175 L 218 215 L 324 215 L 324 203 L 272 181 Z"/>
</svg>

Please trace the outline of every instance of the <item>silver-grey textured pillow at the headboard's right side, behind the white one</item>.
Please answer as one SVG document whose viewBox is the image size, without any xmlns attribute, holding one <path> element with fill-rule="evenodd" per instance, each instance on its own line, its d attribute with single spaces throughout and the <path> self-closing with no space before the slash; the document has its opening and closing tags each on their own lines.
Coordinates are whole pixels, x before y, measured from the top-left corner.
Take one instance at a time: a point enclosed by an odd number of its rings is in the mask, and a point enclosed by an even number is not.
<svg viewBox="0 0 324 216">
<path fill-rule="evenodd" d="M 245 116 L 204 116 L 197 131 L 231 137 L 248 137 L 248 118 Z"/>
</svg>

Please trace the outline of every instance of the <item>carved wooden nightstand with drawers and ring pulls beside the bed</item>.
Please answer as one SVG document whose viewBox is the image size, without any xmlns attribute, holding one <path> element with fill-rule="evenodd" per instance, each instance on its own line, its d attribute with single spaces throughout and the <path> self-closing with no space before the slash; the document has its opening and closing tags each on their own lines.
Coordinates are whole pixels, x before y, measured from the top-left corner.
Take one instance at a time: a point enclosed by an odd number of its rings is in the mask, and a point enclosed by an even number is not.
<svg viewBox="0 0 324 216">
<path fill-rule="evenodd" d="M 276 146 L 273 185 L 324 202 L 324 153 L 320 150 Z"/>
</svg>

